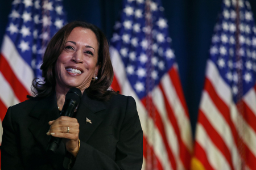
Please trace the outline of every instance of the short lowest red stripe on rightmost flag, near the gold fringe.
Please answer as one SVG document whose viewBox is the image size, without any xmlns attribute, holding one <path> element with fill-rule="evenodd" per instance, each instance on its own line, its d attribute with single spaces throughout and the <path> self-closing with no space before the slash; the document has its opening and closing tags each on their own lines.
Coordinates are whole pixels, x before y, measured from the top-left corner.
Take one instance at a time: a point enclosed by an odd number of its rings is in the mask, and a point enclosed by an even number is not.
<svg viewBox="0 0 256 170">
<path fill-rule="evenodd" d="M 205 153 L 205 150 L 197 142 L 195 142 L 195 156 L 204 165 L 205 169 L 214 170 L 207 159 L 208 156 Z"/>
</svg>

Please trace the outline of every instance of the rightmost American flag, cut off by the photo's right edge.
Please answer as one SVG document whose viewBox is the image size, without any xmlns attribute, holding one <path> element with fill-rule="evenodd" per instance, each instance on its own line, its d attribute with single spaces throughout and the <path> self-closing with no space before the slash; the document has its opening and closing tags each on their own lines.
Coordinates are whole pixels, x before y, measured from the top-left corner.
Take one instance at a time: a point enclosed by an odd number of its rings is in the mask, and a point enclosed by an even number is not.
<svg viewBox="0 0 256 170">
<path fill-rule="evenodd" d="M 248 1 L 223 1 L 209 53 L 192 169 L 256 169 L 256 27 Z"/>
</svg>

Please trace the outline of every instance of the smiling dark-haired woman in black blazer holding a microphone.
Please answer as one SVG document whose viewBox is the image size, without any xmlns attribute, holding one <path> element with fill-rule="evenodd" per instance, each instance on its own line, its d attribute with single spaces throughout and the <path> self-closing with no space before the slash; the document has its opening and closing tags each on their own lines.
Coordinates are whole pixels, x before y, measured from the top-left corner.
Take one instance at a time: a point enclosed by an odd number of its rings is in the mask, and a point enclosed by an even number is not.
<svg viewBox="0 0 256 170">
<path fill-rule="evenodd" d="M 10 107 L 3 120 L 1 170 L 141 169 L 136 104 L 108 90 L 113 68 L 100 29 L 65 25 L 49 42 L 40 69 L 44 82 L 34 80 L 36 97 Z M 76 117 L 59 117 L 72 87 L 82 92 Z M 47 153 L 51 136 L 63 138 L 55 154 Z"/>
</svg>

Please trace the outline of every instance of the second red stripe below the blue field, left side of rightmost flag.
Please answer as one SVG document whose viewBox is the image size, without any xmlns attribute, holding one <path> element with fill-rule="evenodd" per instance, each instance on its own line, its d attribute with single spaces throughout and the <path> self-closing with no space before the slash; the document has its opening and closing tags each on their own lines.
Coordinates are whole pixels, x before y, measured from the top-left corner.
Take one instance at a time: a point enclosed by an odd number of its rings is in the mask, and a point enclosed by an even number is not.
<svg viewBox="0 0 256 170">
<path fill-rule="evenodd" d="M 225 142 L 223 141 L 220 134 L 217 133 L 217 131 L 213 128 L 212 124 L 208 121 L 208 118 L 205 117 L 205 114 L 203 111 L 199 110 L 199 120 L 201 125 L 203 125 L 205 131 L 207 131 L 207 134 L 211 141 L 214 143 L 214 145 L 218 148 L 218 150 L 222 153 L 222 155 L 226 158 L 226 160 L 229 163 L 229 166 L 231 169 L 234 169 L 233 163 L 232 163 L 232 156 L 230 154 L 229 148 L 226 146 Z"/>
</svg>

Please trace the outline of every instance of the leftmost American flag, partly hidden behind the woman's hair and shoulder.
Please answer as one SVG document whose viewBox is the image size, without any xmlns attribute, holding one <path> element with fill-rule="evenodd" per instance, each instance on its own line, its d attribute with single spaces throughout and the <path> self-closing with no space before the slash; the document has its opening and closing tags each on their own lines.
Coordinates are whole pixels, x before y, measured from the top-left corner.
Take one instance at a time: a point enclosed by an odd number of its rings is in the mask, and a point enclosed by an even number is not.
<svg viewBox="0 0 256 170">
<path fill-rule="evenodd" d="M 39 68 L 46 45 L 65 23 L 61 1 L 13 1 L 0 53 L 1 121 L 8 107 L 31 94 L 32 80 L 42 76 Z"/>
</svg>

